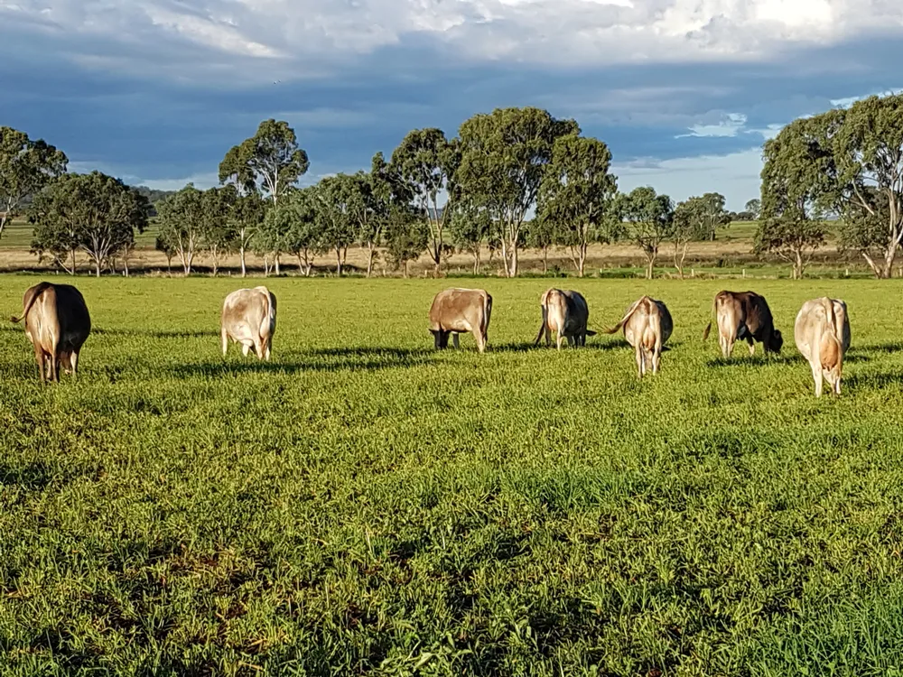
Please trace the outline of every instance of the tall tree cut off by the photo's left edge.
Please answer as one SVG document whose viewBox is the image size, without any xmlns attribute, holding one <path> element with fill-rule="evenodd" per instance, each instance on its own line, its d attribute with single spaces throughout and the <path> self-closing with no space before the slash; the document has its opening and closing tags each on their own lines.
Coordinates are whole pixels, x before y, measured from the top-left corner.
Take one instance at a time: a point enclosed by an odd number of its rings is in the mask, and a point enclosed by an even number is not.
<svg viewBox="0 0 903 677">
<path fill-rule="evenodd" d="M 18 216 L 27 198 L 66 172 L 65 153 L 28 134 L 0 127 L 0 236 L 7 222 Z"/>
</svg>

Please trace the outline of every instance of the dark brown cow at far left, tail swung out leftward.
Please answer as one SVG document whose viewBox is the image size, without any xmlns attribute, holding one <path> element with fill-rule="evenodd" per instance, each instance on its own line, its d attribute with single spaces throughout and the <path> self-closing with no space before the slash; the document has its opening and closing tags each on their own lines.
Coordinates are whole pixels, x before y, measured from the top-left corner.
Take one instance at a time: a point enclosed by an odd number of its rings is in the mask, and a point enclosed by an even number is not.
<svg viewBox="0 0 903 677">
<path fill-rule="evenodd" d="M 60 366 L 72 376 L 79 368 L 81 347 L 91 333 L 88 305 L 71 284 L 38 283 L 23 296 L 25 334 L 34 347 L 41 380 L 60 381 Z"/>
</svg>

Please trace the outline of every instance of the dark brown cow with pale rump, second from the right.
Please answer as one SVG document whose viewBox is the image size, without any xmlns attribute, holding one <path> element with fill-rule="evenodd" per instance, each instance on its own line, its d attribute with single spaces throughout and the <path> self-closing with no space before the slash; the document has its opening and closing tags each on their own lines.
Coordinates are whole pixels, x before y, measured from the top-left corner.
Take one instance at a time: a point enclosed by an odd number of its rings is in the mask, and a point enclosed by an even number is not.
<svg viewBox="0 0 903 677">
<path fill-rule="evenodd" d="M 713 302 L 715 318 L 718 322 L 718 341 L 721 355 L 727 359 L 733 352 L 734 341 L 746 339 L 749 355 L 755 355 L 759 341 L 765 352 L 779 353 L 784 346 L 784 337 L 775 329 L 771 309 L 764 296 L 755 292 L 718 292 Z M 712 322 L 703 331 L 703 341 L 709 338 Z"/>
</svg>

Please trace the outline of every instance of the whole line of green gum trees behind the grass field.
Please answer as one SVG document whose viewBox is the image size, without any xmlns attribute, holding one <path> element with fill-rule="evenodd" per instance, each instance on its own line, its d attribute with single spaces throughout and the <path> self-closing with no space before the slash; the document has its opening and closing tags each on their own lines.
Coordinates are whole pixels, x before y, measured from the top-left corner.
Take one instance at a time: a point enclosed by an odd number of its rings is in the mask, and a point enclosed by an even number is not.
<svg viewBox="0 0 903 677">
<path fill-rule="evenodd" d="M 546 266 L 550 249 L 563 248 L 582 275 L 589 246 L 629 242 L 651 277 L 666 247 L 683 275 L 690 242 L 753 218 L 756 251 L 787 259 L 801 276 L 824 245 L 824 218 L 838 216 L 842 249 L 887 277 L 903 241 L 901 111 L 899 96 L 871 97 L 787 125 L 765 144 L 761 200 L 740 215 L 714 192 L 675 204 L 651 187 L 619 191 L 608 146 L 539 108 L 472 116 L 452 138 L 414 130 L 388 159 L 377 153 L 368 172 L 307 187 L 299 187 L 307 153 L 286 122 L 270 119 L 228 150 L 219 186 L 156 196 L 156 246 L 186 274 L 201 256 L 216 274 L 233 253 L 243 275 L 248 253 L 263 258 L 266 274 L 279 274 L 285 260 L 311 274 L 324 255 L 342 274 L 349 247 L 360 246 L 367 274 L 380 253 L 405 274 L 425 254 L 441 274 L 456 252 L 469 254 L 478 273 L 488 251 L 490 264 L 498 257 L 516 276 L 525 248 Z M 96 274 L 127 272 L 135 232 L 154 214 L 148 191 L 100 172 L 67 173 L 65 154 L 51 145 L 8 127 L 0 134 L 0 235 L 25 212 L 40 257 L 70 273 L 79 254 Z"/>
</svg>

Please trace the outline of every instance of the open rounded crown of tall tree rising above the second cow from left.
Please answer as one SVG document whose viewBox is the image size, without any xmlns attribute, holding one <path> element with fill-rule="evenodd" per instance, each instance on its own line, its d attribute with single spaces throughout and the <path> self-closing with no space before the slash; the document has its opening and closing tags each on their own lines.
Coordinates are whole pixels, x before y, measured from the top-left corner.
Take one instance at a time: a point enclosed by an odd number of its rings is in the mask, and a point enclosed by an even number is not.
<svg viewBox="0 0 903 677">
<path fill-rule="evenodd" d="M 310 165 L 292 127 L 271 118 L 260 123 L 254 136 L 229 149 L 219 163 L 219 181 L 232 183 L 242 194 L 256 191 L 275 203 Z"/>
</svg>

